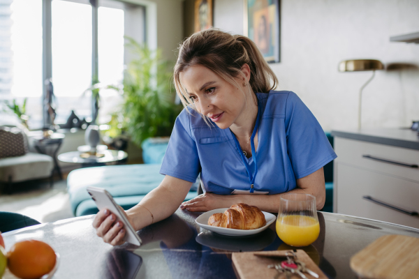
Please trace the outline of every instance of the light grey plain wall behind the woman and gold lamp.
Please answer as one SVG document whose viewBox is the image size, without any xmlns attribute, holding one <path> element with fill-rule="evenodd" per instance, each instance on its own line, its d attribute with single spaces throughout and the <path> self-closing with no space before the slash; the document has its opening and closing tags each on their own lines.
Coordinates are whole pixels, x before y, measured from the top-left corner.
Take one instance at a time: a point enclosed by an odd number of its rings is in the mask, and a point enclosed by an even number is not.
<svg viewBox="0 0 419 279">
<path fill-rule="evenodd" d="M 279 89 L 292 90 L 325 130 L 356 128 L 358 92 L 372 72 L 339 73 L 339 61 L 378 59 L 416 69 L 381 70 L 364 90 L 363 128 L 419 120 L 419 45 L 390 36 L 419 31 L 418 0 L 282 0 Z M 215 0 L 214 27 L 243 33 L 243 1 Z"/>
</svg>

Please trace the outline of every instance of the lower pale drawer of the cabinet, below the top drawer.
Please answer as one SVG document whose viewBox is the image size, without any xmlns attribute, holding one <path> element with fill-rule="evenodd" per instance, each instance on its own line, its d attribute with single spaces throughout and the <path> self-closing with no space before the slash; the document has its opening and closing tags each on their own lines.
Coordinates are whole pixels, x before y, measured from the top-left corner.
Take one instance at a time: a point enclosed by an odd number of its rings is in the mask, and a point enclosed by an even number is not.
<svg viewBox="0 0 419 279">
<path fill-rule="evenodd" d="M 337 163 L 337 213 L 419 228 L 419 217 L 378 205 L 365 196 L 419 212 L 419 183 Z"/>
</svg>

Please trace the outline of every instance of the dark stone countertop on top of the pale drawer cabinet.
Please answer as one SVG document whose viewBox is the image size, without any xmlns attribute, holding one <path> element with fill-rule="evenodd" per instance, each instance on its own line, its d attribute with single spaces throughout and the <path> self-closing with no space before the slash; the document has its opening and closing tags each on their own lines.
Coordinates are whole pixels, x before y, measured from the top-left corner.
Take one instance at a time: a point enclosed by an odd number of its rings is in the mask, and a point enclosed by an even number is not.
<svg viewBox="0 0 419 279">
<path fill-rule="evenodd" d="M 408 128 L 332 130 L 334 137 L 419 150 L 418 132 Z"/>
</svg>

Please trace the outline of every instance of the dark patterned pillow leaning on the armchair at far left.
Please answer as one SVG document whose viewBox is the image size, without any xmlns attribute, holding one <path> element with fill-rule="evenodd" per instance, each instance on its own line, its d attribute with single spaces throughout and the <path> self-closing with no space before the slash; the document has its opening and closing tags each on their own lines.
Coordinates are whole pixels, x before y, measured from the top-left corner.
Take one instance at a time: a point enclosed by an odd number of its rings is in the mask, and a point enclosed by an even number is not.
<svg viewBox="0 0 419 279">
<path fill-rule="evenodd" d="M 24 156 L 26 153 L 28 147 L 22 130 L 0 127 L 0 158 Z"/>
</svg>

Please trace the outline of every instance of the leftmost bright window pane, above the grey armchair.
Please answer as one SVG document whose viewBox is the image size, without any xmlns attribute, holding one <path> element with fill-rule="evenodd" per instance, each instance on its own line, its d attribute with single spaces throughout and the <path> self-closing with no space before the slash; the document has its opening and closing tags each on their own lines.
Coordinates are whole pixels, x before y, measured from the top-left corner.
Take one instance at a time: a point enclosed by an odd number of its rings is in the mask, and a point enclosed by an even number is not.
<svg viewBox="0 0 419 279">
<path fill-rule="evenodd" d="M 28 98 L 30 126 L 42 124 L 42 32 L 42 0 L 0 0 L 0 100 Z"/>
</svg>

